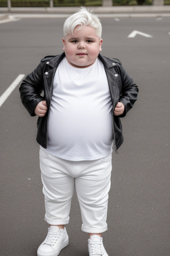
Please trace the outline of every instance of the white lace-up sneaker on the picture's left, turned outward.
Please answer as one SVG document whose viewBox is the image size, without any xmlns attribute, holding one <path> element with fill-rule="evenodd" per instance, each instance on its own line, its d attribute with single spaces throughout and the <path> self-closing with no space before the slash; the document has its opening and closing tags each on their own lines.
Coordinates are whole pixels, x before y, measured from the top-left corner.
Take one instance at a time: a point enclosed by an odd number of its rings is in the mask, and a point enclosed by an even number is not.
<svg viewBox="0 0 170 256">
<path fill-rule="evenodd" d="M 38 256 L 57 256 L 60 251 L 68 245 L 66 228 L 59 229 L 57 226 L 50 226 L 44 242 L 37 251 Z"/>
</svg>

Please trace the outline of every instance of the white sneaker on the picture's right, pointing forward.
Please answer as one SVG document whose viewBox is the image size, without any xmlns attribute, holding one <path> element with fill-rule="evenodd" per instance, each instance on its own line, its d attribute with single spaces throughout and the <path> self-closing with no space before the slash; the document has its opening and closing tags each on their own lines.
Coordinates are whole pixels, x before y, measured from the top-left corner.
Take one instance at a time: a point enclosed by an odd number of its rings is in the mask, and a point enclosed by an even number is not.
<svg viewBox="0 0 170 256">
<path fill-rule="evenodd" d="M 89 256 L 108 256 L 104 249 L 102 237 L 99 235 L 92 235 L 88 239 L 88 252 Z"/>
</svg>

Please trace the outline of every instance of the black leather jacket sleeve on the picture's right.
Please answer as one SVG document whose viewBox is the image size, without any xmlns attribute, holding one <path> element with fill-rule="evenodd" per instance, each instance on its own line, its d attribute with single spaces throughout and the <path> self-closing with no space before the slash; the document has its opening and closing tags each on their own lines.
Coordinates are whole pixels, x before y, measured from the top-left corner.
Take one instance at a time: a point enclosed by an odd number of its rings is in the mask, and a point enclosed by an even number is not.
<svg viewBox="0 0 170 256">
<path fill-rule="evenodd" d="M 120 67 L 120 75 L 122 78 L 122 91 L 120 94 L 120 102 L 125 106 L 124 113 L 120 117 L 125 117 L 129 109 L 133 107 L 133 104 L 137 100 L 138 87 L 134 83 L 133 79 L 128 75 L 124 67 Z"/>
</svg>

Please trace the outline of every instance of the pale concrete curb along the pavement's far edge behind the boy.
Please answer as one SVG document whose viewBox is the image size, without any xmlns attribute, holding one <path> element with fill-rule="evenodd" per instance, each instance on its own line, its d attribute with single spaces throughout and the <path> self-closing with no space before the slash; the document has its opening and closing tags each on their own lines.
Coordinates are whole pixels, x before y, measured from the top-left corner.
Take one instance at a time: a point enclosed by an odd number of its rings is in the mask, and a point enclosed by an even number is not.
<svg viewBox="0 0 170 256">
<path fill-rule="evenodd" d="M 6 7 L 0 8 L 0 20 L 15 17 L 66 17 L 76 12 L 80 7 Z M 169 17 L 170 5 L 163 6 L 112 6 L 112 7 L 87 7 L 98 16 L 106 17 Z M 4 14 L 3 14 L 4 13 Z"/>
</svg>

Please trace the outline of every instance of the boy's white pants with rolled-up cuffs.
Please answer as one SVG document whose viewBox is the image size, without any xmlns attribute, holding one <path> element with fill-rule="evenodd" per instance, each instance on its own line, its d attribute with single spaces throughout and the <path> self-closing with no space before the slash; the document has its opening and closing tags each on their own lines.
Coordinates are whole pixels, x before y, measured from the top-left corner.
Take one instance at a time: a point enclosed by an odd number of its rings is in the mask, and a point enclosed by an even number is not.
<svg viewBox="0 0 170 256">
<path fill-rule="evenodd" d="M 40 149 L 40 167 L 47 223 L 68 224 L 71 199 L 76 188 L 82 231 L 102 233 L 108 229 L 106 218 L 112 155 L 92 161 L 68 161 Z"/>
</svg>

